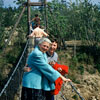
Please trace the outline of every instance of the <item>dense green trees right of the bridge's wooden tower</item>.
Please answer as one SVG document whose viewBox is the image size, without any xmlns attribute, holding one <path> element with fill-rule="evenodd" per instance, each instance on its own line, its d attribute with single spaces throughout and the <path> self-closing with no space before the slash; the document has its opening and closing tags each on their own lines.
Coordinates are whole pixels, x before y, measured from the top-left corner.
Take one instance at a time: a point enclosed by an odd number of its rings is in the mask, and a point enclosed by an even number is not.
<svg viewBox="0 0 100 100">
<path fill-rule="evenodd" d="M 92 5 L 88 0 L 79 3 L 68 3 L 64 5 L 53 1 L 49 3 L 48 9 L 48 27 L 50 34 L 58 39 L 78 39 L 87 40 L 87 44 L 92 42 L 95 45 L 100 41 L 100 10 L 98 6 Z M 51 12 L 51 13 L 50 13 Z M 51 28 L 52 27 L 52 28 Z"/>
</svg>

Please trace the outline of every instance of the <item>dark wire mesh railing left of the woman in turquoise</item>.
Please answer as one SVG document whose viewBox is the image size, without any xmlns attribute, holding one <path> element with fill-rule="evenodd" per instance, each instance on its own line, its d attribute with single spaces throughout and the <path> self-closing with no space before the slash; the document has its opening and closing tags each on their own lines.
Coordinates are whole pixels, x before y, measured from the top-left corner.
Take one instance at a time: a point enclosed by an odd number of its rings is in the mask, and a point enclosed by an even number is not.
<svg viewBox="0 0 100 100">
<path fill-rule="evenodd" d="M 16 98 L 16 94 L 18 92 L 18 100 L 20 100 L 19 89 L 21 86 L 22 75 L 23 75 L 23 67 L 25 66 L 27 54 L 28 54 L 28 41 L 24 48 L 24 51 L 17 63 L 13 73 L 5 84 L 4 88 L 0 92 L 0 100 L 14 100 Z"/>
</svg>

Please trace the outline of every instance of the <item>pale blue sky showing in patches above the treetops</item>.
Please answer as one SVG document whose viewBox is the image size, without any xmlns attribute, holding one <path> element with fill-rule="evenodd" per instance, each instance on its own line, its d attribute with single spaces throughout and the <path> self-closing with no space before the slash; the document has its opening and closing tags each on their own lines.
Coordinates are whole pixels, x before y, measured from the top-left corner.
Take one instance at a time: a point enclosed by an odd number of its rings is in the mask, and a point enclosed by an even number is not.
<svg viewBox="0 0 100 100">
<path fill-rule="evenodd" d="M 3 0 L 4 1 L 4 7 L 14 7 L 16 6 L 15 3 L 13 3 L 13 1 L 16 1 L 16 0 Z M 38 0 L 30 0 L 31 2 L 37 2 Z M 48 1 L 51 1 L 51 0 L 47 0 Z M 70 0 L 66 0 L 66 2 L 69 2 Z M 76 0 L 72 0 L 73 2 L 75 2 Z M 100 0 L 90 0 L 93 4 L 100 4 Z M 17 6 L 16 6 L 17 7 Z"/>
</svg>

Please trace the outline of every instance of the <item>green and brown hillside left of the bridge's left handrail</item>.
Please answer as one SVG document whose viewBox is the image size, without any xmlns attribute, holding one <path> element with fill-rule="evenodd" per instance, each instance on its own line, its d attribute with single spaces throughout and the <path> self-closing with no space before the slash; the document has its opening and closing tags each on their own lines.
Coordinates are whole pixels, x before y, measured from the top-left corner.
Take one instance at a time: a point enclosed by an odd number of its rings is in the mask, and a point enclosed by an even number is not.
<svg viewBox="0 0 100 100">
<path fill-rule="evenodd" d="M 0 89 L 18 63 L 27 40 L 27 11 L 22 16 L 16 30 L 11 33 L 22 8 L 0 8 Z M 11 34 L 9 41 L 11 44 L 5 46 L 8 43 L 5 40 L 8 40 Z"/>
</svg>

